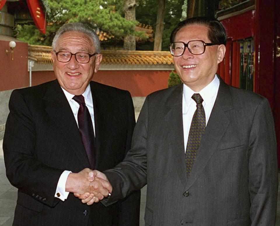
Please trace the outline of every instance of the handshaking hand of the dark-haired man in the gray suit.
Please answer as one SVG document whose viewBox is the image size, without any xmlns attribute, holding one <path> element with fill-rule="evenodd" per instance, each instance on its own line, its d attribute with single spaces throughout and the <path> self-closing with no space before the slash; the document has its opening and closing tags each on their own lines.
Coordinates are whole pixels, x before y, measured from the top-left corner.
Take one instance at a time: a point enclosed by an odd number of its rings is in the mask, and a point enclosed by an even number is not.
<svg viewBox="0 0 280 226">
<path fill-rule="evenodd" d="M 94 171 L 90 171 L 88 173 L 88 180 L 91 182 L 91 183 L 94 183 L 95 186 L 102 186 L 102 187 L 99 187 L 96 189 L 106 189 L 108 190 L 108 195 L 111 195 L 111 192 L 113 190 L 111 184 L 109 183 L 108 181 L 108 178 L 106 177 L 106 175 L 104 173 L 101 173 L 100 171 L 97 171 L 97 170 L 94 170 Z M 101 183 L 101 184 L 100 184 Z M 103 199 L 104 197 L 107 197 L 105 195 L 102 195 L 101 194 L 97 194 L 95 195 L 95 193 L 90 193 L 90 192 L 86 192 L 84 194 L 77 194 L 75 193 L 74 194 L 76 197 L 78 197 L 79 199 L 82 200 L 83 203 L 87 203 L 88 205 L 92 205 L 94 202 L 99 202 L 99 200 Z"/>
</svg>

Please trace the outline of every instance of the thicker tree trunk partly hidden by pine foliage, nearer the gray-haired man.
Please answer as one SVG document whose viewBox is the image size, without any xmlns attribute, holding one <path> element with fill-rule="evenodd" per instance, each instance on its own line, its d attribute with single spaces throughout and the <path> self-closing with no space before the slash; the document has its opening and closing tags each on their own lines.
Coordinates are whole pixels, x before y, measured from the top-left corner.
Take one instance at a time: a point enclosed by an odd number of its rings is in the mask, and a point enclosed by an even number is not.
<svg viewBox="0 0 280 226">
<path fill-rule="evenodd" d="M 135 8 L 136 8 L 136 0 L 127 0 L 125 2 L 125 19 L 127 20 L 135 20 Z M 127 35 L 123 41 L 123 48 L 125 50 L 136 50 L 136 41 L 135 36 Z"/>
</svg>

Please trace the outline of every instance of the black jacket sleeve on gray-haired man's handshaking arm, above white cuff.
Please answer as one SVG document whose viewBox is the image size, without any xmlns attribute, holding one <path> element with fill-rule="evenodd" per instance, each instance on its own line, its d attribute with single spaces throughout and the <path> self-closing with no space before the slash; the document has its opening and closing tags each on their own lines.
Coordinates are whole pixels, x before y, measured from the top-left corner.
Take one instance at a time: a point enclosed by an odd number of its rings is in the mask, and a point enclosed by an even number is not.
<svg viewBox="0 0 280 226">
<path fill-rule="evenodd" d="M 34 199 L 54 206 L 55 189 L 63 170 L 51 168 L 36 158 L 36 128 L 24 95 L 14 90 L 3 139 L 6 175 L 10 183 Z"/>
</svg>

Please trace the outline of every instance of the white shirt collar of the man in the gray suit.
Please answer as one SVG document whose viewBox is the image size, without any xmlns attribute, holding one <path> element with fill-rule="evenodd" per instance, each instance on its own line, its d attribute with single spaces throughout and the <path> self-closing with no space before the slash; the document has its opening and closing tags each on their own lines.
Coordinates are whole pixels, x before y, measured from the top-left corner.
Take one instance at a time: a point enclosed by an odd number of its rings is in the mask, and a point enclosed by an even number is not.
<svg viewBox="0 0 280 226">
<path fill-rule="evenodd" d="M 220 85 L 220 80 L 215 74 L 214 79 L 207 86 L 205 86 L 201 91 L 199 91 L 199 94 L 203 99 L 204 106 L 207 105 L 207 103 L 211 102 L 213 96 L 218 92 L 219 85 Z M 183 95 L 187 105 L 190 103 L 190 101 L 192 101 L 192 95 L 194 93 L 197 92 L 193 91 L 190 87 L 183 84 Z"/>
</svg>

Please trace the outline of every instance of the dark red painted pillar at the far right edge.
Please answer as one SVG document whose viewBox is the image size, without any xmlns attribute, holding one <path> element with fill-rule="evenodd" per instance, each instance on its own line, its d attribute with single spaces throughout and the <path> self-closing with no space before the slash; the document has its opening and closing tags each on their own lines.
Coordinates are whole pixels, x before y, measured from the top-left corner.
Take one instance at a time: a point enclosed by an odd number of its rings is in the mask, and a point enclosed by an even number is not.
<svg viewBox="0 0 280 226">
<path fill-rule="evenodd" d="M 277 36 L 280 36 L 280 25 L 277 25 L 277 21 L 280 22 L 280 8 L 278 0 L 256 0 L 255 5 L 255 92 L 265 96 L 272 108 L 280 166 L 280 59 L 276 56 Z"/>
</svg>

